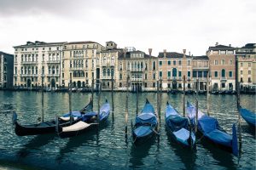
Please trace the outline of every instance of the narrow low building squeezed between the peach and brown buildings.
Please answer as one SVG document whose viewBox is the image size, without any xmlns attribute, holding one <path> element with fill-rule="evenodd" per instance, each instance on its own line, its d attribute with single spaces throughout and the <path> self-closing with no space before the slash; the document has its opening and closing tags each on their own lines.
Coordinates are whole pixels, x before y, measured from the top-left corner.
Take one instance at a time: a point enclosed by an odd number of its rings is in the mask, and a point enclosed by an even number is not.
<svg viewBox="0 0 256 170">
<path fill-rule="evenodd" d="M 207 55 L 193 56 L 193 87 L 196 90 L 196 81 L 199 81 L 199 90 L 207 90 L 207 74 L 209 72 L 209 58 Z M 210 82 L 210 79 L 209 79 Z"/>
</svg>

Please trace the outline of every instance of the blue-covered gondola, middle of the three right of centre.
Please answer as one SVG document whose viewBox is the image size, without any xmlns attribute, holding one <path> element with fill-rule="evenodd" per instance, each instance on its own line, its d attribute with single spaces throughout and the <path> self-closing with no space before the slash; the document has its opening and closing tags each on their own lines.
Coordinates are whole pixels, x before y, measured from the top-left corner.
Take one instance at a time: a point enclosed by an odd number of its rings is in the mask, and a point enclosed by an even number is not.
<svg viewBox="0 0 256 170">
<path fill-rule="evenodd" d="M 166 104 L 166 127 L 171 133 L 172 139 L 183 146 L 195 145 L 195 133 L 192 132 L 189 118 L 181 116 L 168 102 Z"/>
</svg>

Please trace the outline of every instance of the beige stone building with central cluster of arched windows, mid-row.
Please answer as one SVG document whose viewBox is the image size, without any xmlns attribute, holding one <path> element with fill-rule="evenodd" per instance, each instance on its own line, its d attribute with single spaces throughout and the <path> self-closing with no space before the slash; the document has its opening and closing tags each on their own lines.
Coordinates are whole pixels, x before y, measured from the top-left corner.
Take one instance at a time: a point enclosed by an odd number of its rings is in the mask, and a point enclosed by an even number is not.
<svg viewBox="0 0 256 170">
<path fill-rule="evenodd" d="M 152 49 L 148 49 L 149 54 L 136 50 L 136 48 L 124 48 L 119 55 L 119 90 L 126 89 L 126 79 L 130 77 L 129 89 L 135 91 L 138 86 L 139 91 L 156 90 L 158 79 L 157 58 L 152 56 Z"/>
</svg>

